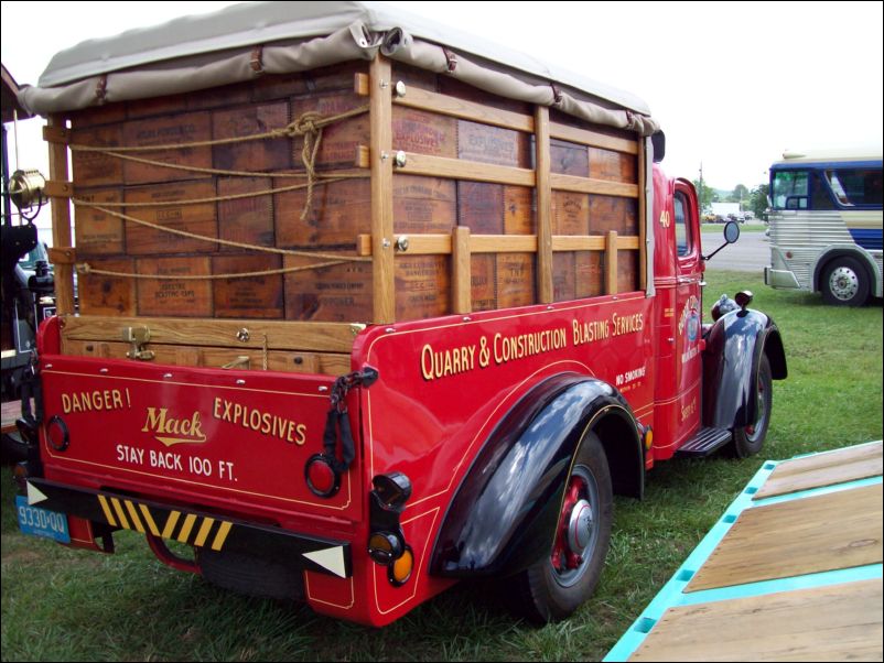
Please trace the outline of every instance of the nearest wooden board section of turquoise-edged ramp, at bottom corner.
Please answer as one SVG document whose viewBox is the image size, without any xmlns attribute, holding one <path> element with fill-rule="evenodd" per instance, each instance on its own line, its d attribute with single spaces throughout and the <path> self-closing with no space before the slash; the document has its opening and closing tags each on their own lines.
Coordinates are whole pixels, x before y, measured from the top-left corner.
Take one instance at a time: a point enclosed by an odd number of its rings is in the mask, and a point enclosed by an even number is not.
<svg viewBox="0 0 884 663">
<path fill-rule="evenodd" d="M 667 610 L 629 661 L 881 661 L 881 578 Z"/>
</svg>

